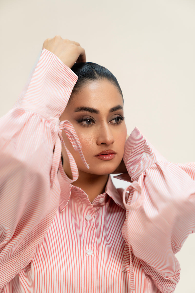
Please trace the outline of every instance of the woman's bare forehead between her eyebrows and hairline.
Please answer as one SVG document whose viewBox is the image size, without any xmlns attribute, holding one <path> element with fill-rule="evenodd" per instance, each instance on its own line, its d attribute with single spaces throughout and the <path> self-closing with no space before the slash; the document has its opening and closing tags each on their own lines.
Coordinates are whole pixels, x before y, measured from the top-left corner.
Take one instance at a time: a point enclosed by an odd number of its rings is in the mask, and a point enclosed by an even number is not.
<svg viewBox="0 0 195 293">
<path fill-rule="evenodd" d="M 115 105 L 123 106 L 123 100 L 115 85 L 107 80 L 99 80 L 84 85 L 78 93 L 71 97 L 70 105 L 72 107 L 88 106 L 110 109 Z"/>
</svg>

